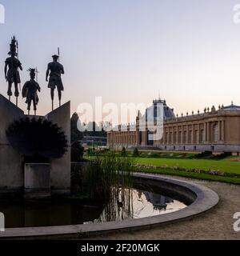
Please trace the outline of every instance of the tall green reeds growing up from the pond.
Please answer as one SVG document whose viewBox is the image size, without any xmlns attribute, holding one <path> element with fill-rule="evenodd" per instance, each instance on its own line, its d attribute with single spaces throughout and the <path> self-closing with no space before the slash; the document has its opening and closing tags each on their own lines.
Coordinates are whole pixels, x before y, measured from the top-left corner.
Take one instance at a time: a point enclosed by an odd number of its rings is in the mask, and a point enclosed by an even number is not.
<svg viewBox="0 0 240 256">
<path fill-rule="evenodd" d="M 92 199 L 109 199 L 112 194 L 122 194 L 133 185 L 133 158 L 115 152 L 95 154 L 87 170 L 87 194 Z"/>
</svg>

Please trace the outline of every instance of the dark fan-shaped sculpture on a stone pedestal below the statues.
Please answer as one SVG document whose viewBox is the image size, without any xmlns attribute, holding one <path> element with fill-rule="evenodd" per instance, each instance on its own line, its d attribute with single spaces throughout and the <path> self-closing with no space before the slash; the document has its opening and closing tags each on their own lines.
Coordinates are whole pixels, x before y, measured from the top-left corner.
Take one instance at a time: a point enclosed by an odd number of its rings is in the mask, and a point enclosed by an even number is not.
<svg viewBox="0 0 240 256">
<path fill-rule="evenodd" d="M 61 128 L 42 118 L 15 121 L 6 136 L 15 150 L 28 157 L 62 158 L 68 147 Z"/>
</svg>

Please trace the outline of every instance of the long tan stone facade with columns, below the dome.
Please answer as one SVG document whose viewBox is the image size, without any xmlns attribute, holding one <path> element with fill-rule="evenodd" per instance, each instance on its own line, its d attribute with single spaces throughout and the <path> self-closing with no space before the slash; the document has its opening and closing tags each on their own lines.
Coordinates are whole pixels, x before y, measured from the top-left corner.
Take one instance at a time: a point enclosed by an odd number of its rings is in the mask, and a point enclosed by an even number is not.
<svg viewBox="0 0 240 256">
<path fill-rule="evenodd" d="M 162 102 L 162 101 L 161 101 Z M 170 108 L 166 106 L 165 110 Z M 219 106 L 218 110 L 205 109 L 204 113 L 182 117 L 164 117 L 163 136 L 159 141 L 149 140 L 149 131 L 139 130 L 139 114 L 134 131 L 127 126 L 121 131 L 108 133 L 111 148 L 150 148 L 156 150 L 240 152 L 240 106 Z"/>
</svg>

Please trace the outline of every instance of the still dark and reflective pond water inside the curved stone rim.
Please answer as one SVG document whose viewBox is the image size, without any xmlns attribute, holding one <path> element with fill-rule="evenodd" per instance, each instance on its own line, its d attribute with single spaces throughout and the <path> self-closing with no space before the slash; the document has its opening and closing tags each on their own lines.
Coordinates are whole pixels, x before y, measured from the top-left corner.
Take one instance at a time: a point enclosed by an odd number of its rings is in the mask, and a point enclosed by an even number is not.
<svg viewBox="0 0 240 256">
<path fill-rule="evenodd" d="M 38 203 L 0 202 L 5 214 L 6 228 L 30 226 L 65 226 L 92 222 L 112 222 L 169 214 L 182 210 L 186 202 L 158 194 L 153 190 L 129 189 L 113 191 L 107 203 L 51 201 Z"/>
</svg>

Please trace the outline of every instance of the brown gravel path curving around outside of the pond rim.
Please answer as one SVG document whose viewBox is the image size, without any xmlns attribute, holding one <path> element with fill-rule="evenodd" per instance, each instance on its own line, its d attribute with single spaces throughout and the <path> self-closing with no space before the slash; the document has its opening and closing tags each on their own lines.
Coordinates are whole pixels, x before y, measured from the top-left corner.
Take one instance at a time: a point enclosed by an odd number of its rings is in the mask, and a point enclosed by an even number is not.
<svg viewBox="0 0 240 256">
<path fill-rule="evenodd" d="M 169 178 L 169 176 L 167 176 Z M 176 178 L 176 177 L 173 177 Z M 151 230 L 107 234 L 94 239 L 238 239 L 240 232 L 234 231 L 234 214 L 240 212 L 240 186 L 219 182 L 202 182 L 178 178 L 208 186 L 218 193 L 220 202 L 210 212 L 185 222 L 177 222 Z"/>
</svg>

